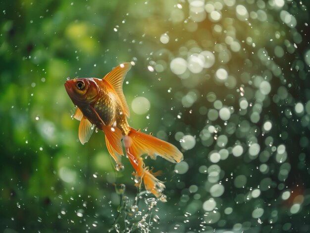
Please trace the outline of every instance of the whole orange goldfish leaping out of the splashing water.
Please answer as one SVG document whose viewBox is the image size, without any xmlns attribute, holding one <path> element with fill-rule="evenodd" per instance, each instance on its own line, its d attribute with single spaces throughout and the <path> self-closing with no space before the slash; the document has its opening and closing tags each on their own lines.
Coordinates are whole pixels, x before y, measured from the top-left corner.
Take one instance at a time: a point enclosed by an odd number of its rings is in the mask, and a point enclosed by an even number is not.
<svg viewBox="0 0 310 233">
<path fill-rule="evenodd" d="M 123 153 L 121 140 L 124 141 L 126 154 L 135 169 L 137 186 L 142 180 L 146 190 L 156 197 L 163 197 L 164 184 L 155 178 L 143 162 L 142 155 L 152 158 L 159 155 L 172 163 L 183 160 L 183 154 L 174 145 L 144 134 L 128 125 L 130 116 L 128 104 L 123 93 L 123 81 L 131 68 L 131 63 L 118 65 L 103 79 L 79 78 L 65 82 L 65 89 L 72 102 L 77 106 L 74 118 L 80 121 L 79 139 L 87 142 L 95 126 L 103 130 L 107 150 L 116 162 L 116 169 L 122 168 L 120 161 Z"/>
</svg>

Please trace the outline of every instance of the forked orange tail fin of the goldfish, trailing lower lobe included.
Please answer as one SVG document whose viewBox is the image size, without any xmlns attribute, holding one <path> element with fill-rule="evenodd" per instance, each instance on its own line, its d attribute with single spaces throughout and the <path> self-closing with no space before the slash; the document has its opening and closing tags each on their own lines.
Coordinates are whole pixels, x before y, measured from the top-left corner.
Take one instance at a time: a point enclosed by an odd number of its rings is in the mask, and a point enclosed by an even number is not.
<svg viewBox="0 0 310 233">
<path fill-rule="evenodd" d="M 157 198 L 161 197 L 165 186 L 155 178 L 158 172 L 153 173 L 152 170 L 149 170 L 149 167 L 145 167 L 141 155 L 148 154 L 152 158 L 155 155 L 159 155 L 170 162 L 178 163 L 183 160 L 181 151 L 166 141 L 144 134 L 133 128 L 124 137 L 124 142 L 128 158 L 136 170 L 138 177 L 143 179 L 146 190 L 151 191 Z M 165 198 L 161 198 L 161 200 L 165 201 Z"/>
</svg>

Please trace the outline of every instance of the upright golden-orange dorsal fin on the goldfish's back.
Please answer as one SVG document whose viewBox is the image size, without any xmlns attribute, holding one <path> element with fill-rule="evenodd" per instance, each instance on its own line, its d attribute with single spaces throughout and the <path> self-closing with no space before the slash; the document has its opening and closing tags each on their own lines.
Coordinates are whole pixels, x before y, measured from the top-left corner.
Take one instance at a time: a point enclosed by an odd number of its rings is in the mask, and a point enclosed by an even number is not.
<svg viewBox="0 0 310 233">
<path fill-rule="evenodd" d="M 122 63 L 115 67 L 110 73 L 104 76 L 104 80 L 107 81 L 117 93 L 121 100 L 124 114 L 130 117 L 130 111 L 123 93 L 123 82 L 127 72 L 130 70 L 131 64 L 129 62 Z"/>
</svg>

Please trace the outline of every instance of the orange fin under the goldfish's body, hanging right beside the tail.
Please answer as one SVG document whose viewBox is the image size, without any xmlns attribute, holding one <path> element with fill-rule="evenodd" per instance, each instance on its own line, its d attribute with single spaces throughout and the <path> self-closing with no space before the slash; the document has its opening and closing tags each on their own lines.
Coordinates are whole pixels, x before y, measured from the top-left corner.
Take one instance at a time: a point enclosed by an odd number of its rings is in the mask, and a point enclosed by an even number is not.
<svg viewBox="0 0 310 233">
<path fill-rule="evenodd" d="M 122 146 L 122 132 L 117 127 L 103 126 L 103 132 L 105 134 L 105 143 L 110 155 L 117 162 L 116 153 L 124 155 Z"/>
</svg>

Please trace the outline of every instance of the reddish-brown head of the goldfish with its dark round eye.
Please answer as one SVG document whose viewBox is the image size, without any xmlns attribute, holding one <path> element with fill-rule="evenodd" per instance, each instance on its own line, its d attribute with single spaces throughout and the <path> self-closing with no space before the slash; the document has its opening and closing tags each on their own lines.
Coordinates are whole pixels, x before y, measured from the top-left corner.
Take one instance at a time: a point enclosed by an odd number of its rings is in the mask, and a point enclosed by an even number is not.
<svg viewBox="0 0 310 233">
<path fill-rule="evenodd" d="M 64 87 L 73 103 L 92 103 L 99 96 L 99 87 L 92 78 L 71 79 Z"/>
</svg>

